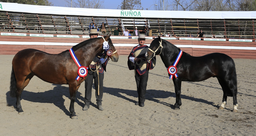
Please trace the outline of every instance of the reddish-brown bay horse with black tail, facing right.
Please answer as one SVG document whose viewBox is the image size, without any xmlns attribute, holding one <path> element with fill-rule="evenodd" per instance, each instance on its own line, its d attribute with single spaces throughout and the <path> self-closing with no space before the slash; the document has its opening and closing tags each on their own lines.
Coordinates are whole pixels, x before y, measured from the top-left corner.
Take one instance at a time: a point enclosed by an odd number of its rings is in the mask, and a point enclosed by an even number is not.
<svg viewBox="0 0 256 136">
<path fill-rule="evenodd" d="M 112 55 L 112 61 L 118 61 L 118 54 L 109 36 L 85 40 L 72 47 L 72 50 L 81 66 L 88 67 L 93 58 L 103 51 L 103 42 L 108 41 Z M 66 50 L 60 54 L 48 54 L 35 49 L 19 51 L 12 60 L 12 72 L 10 81 L 10 96 L 16 97 L 16 110 L 24 113 L 20 104 L 20 96 L 33 76 L 37 76 L 45 82 L 54 84 L 67 84 L 69 86 L 71 118 L 77 118 L 74 102 L 76 92 L 84 78 L 78 80 L 78 65 L 71 56 L 71 51 Z M 84 74 L 85 76 L 86 74 Z"/>
</svg>

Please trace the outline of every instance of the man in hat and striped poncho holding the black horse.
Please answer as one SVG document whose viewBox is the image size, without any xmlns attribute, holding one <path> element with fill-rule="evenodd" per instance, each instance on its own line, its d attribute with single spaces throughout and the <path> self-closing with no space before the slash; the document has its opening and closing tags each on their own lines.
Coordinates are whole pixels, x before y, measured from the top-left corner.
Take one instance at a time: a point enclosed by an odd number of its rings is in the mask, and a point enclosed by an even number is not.
<svg viewBox="0 0 256 136">
<path fill-rule="evenodd" d="M 128 56 L 128 67 L 129 70 L 135 70 L 135 81 L 138 92 L 138 102 L 135 105 L 141 107 L 144 106 L 147 81 L 148 81 L 148 70 L 153 69 L 155 66 L 155 57 L 150 62 L 145 58 L 148 46 L 145 45 L 145 35 L 139 35 L 139 45 L 133 47 L 131 53 Z"/>
</svg>

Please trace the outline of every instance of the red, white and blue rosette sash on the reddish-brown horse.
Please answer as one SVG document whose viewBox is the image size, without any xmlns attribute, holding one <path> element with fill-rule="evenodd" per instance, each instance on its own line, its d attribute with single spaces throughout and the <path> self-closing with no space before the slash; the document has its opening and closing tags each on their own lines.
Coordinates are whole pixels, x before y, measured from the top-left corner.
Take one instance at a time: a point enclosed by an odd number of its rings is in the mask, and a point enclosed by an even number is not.
<svg viewBox="0 0 256 136">
<path fill-rule="evenodd" d="M 73 51 L 73 49 L 69 49 L 69 53 L 71 54 L 73 60 L 75 61 L 76 65 L 78 66 L 78 76 L 76 77 L 75 80 L 79 80 L 80 77 L 86 77 L 87 73 L 88 73 L 88 67 L 84 67 L 84 66 L 81 66 L 81 64 L 79 63 L 78 59 L 76 58 L 76 55 Z"/>
</svg>

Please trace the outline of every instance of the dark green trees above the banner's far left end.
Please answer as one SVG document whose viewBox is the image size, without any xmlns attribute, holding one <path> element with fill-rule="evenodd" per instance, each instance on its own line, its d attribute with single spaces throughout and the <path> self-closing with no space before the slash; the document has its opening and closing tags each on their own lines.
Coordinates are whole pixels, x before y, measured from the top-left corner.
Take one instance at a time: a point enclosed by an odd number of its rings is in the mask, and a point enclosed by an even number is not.
<svg viewBox="0 0 256 136">
<path fill-rule="evenodd" d="M 48 0 L 0 0 L 0 2 L 53 6 L 53 4 Z"/>
</svg>

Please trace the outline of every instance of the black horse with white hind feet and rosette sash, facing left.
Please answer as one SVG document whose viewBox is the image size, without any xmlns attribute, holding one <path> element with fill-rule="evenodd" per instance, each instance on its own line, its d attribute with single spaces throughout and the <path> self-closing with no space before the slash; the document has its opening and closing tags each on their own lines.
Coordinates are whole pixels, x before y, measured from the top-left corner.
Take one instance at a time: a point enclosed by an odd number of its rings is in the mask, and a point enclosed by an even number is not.
<svg viewBox="0 0 256 136">
<path fill-rule="evenodd" d="M 180 109 L 181 106 L 181 81 L 199 82 L 210 77 L 217 77 L 223 90 L 223 99 L 219 109 L 224 109 L 227 96 L 231 96 L 233 97 L 232 111 L 238 112 L 236 68 L 231 57 L 223 53 L 193 57 L 182 52 L 180 48 L 172 43 L 161 39 L 160 36 L 151 42 L 145 57 L 150 60 L 154 55 L 160 55 L 167 71 L 170 70 L 170 73 L 168 72 L 170 78 L 172 75 L 176 94 L 174 109 Z M 177 78 L 174 77 L 176 76 L 173 73 L 174 71 L 177 72 Z"/>
</svg>

